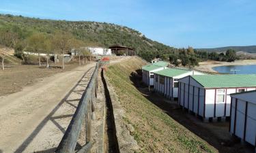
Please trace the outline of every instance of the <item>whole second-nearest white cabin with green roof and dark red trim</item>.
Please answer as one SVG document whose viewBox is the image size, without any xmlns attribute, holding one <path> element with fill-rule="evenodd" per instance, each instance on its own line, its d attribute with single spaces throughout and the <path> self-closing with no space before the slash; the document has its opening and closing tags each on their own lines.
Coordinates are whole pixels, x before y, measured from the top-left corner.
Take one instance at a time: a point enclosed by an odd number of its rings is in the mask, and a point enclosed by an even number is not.
<svg viewBox="0 0 256 153">
<path fill-rule="evenodd" d="M 179 103 L 205 121 L 230 116 L 230 94 L 255 90 L 256 75 L 190 75 L 180 79 Z"/>
</svg>

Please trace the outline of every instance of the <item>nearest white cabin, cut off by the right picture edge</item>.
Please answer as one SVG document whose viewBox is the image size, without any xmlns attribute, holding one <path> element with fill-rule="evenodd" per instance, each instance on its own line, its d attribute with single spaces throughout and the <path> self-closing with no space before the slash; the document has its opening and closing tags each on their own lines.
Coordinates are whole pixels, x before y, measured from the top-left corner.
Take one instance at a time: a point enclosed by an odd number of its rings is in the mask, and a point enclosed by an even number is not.
<svg viewBox="0 0 256 153">
<path fill-rule="evenodd" d="M 229 132 L 256 147 L 256 90 L 231 94 Z"/>
</svg>

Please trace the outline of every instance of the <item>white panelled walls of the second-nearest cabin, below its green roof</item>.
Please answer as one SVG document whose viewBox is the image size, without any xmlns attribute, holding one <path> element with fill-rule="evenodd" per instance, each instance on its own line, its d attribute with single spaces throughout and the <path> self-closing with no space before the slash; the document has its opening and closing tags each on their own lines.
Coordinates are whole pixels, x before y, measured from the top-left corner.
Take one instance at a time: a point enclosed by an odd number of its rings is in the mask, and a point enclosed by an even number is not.
<svg viewBox="0 0 256 153">
<path fill-rule="evenodd" d="M 190 87 L 188 87 L 189 80 L 190 80 Z M 230 94 L 237 92 L 238 88 L 203 88 L 193 78 L 190 77 L 189 79 L 189 76 L 180 79 L 180 82 L 181 82 L 181 86 L 180 86 L 181 90 L 180 90 L 179 103 L 182 107 L 185 107 L 186 109 L 189 109 L 190 111 L 195 112 L 195 114 L 204 116 L 205 118 L 217 118 L 217 117 L 230 116 L 230 103 L 231 103 Z M 185 91 L 184 91 L 184 84 L 185 84 Z M 198 100 L 199 88 L 200 88 L 200 95 L 199 95 L 200 97 Z M 225 90 L 225 95 L 224 95 L 225 98 L 223 103 L 218 103 L 216 100 L 218 98 L 217 97 L 218 89 Z M 254 89 L 255 89 L 254 87 L 246 88 L 246 90 L 254 90 Z M 193 90 L 195 91 L 193 92 Z M 199 101 L 199 112 L 198 112 L 198 101 Z"/>
</svg>

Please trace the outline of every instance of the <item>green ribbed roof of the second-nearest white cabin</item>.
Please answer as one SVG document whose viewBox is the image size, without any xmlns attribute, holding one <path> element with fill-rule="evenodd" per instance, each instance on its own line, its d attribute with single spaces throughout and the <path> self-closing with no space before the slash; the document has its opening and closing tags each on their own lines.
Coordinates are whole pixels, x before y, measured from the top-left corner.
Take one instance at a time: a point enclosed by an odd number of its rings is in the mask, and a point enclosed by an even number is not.
<svg viewBox="0 0 256 153">
<path fill-rule="evenodd" d="M 256 75 L 191 75 L 205 88 L 229 88 L 256 86 Z"/>
</svg>

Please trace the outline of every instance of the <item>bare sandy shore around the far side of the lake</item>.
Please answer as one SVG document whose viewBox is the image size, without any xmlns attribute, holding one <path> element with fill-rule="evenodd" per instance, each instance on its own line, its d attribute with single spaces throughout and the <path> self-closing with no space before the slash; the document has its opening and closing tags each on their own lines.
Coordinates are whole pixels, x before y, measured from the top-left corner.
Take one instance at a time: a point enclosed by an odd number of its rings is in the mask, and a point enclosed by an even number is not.
<svg viewBox="0 0 256 153">
<path fill-rule="evenodd" d="M 212 68 L 224 65 L 256 65 L 256 60 L 237 60 L 234 62 L 204 61 L 199 63 L 199 66 L 195 67 L 195 69 L 218 73 Z"/>
</svg>

